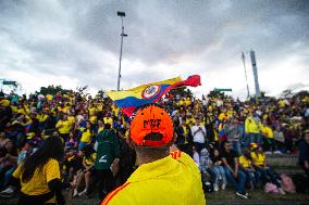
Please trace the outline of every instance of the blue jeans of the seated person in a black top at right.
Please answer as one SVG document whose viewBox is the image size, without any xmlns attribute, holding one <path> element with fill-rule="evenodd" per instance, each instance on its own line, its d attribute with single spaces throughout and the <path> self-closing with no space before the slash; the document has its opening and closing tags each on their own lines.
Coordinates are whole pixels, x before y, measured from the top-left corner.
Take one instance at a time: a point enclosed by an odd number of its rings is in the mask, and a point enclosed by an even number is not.
<svg viewBox="0 0 309 205">
<path fill-rule="evenodd" d="M 235 188 L 235 190 L 238 193 L 245 194 L 246 175 L 242 170 L 238 170 L 238 177 L 236 179 L 226 166 L 224 166 L 224 171 L 227 181 Z"/>
</svg>

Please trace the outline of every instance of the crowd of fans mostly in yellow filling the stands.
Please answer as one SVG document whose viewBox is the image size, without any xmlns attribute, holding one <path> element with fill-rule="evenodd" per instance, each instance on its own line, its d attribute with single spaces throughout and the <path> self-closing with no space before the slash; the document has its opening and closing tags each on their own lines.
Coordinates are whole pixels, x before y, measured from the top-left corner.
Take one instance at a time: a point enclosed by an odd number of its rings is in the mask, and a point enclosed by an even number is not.
<svg viewBox="0 0 309 205">
<path fill-rule="evenodd" d="M 201 172 L 206 192 L 274 185 L 283 179 L 267 163 L 269 154 L 299 153 L 309 177 L 309 94 L 248 99 L 224 94 L 201 100 L 169 94 L 159 102 L 176 132 L 175 145 L 188 153 Z M 60 159 L 62 189 L 73 197 L 104 196 L 123 184 L 138 166 L 126 139 L 131 118 L 110 99 L 81 92 L 18 97 L 0 93 L 0 196 L 18 191 L 12 183 L 17 165 L 50 136 L 64 144 Z M 299 149 L 298 149 L 299 146 Z"/>
</svg>

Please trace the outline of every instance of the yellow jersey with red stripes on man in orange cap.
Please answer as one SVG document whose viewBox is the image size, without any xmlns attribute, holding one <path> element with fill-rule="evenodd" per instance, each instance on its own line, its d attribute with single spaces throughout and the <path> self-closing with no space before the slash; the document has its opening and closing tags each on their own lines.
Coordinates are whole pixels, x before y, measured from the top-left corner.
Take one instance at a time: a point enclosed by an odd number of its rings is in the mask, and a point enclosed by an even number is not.
<svg viewBox="0 0 309 205">
<path fill-rule="evenodd" d="M 205 205 L 196 164 L 183 152 L 172 155 L 138 167 L 101 205 Z"/>
</svg>

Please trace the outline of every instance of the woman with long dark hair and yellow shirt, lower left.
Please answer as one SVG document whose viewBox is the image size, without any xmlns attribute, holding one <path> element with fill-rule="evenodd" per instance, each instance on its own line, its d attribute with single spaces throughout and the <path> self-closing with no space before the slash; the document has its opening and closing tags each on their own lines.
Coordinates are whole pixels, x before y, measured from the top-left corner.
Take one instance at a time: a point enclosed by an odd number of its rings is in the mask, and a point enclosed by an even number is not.
<svg viewBox="0 0 309 205">
<path fill-rule="evenodd" d="M 20 164 L 13 172 L 13 177 L 20 179 L 22 185 L 18 205 L 65 204 L 59 165 L 62 156 L 62 139 L 49 137 L 33 155 Z"/>
</svg>

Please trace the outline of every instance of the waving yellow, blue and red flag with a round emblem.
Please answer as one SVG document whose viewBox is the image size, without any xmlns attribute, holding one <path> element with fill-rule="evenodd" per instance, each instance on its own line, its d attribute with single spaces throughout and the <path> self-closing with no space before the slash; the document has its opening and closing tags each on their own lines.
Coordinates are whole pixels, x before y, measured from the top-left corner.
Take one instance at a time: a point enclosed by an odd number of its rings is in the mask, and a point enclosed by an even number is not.
<svg viewBox="0 0 309 205">
<path fill-rule="evenodd" d="M 168 91 L 181 86 L 200 86 L 200 76 L 189 76 L 186 80 L 181 77 L 143 85 L 129 90 L 106 92 L 122 111 L 131 116 L 138 106 L 158 102 Z"/>
</svg>

